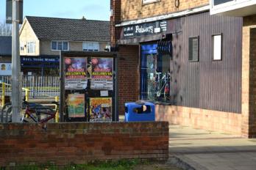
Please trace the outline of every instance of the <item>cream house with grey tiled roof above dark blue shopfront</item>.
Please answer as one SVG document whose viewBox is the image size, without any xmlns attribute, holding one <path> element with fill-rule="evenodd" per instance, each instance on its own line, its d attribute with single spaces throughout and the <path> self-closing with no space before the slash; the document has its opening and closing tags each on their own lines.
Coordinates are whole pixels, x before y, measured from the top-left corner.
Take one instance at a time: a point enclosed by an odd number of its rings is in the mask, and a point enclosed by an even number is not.
<svg viewBox="0 0 256 170">
<path fill-rule="evenodd" d="M 104 51 L 110 22 L 26 16 L 20 29 L 21 69 L 26 74 L 58 75 L 60 51 Z"/>
</svg>

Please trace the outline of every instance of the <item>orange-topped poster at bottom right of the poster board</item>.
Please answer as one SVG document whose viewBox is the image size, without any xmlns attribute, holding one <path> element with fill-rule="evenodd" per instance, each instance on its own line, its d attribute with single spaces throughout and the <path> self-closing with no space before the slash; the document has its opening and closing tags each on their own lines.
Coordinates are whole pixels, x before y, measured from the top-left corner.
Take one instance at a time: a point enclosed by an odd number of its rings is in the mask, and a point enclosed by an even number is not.
<svg viewBox="0 0 256 170">
<path fill-rule="evenodd" d="M 90 98 L 90 122 L 112 121 L 112 98 Z"/>
</svg>

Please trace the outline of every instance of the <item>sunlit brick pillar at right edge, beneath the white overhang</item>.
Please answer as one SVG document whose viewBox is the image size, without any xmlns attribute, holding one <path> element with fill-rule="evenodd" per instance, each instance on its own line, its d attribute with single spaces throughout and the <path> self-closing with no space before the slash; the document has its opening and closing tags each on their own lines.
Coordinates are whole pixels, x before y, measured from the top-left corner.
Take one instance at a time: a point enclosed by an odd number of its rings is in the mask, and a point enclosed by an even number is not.
<svg viewBox="0 0 256 170">
<path fill-rule="evenodd" d="M 243 18 L 242 135 L 256 137 L 256 15 Z"/>
</svg>

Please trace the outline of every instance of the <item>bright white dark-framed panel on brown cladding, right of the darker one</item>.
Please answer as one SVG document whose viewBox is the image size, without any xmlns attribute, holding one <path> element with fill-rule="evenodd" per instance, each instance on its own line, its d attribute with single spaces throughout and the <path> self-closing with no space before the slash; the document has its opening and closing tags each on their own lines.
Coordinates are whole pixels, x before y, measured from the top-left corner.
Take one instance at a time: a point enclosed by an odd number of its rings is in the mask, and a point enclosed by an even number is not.
<svg viewBox="0 0 256 170">
<path fill-rule="evenodd" d="M 213 60 L 222 59 L 222 36 L 221 34 L 213 35 Z"/>
</svg>

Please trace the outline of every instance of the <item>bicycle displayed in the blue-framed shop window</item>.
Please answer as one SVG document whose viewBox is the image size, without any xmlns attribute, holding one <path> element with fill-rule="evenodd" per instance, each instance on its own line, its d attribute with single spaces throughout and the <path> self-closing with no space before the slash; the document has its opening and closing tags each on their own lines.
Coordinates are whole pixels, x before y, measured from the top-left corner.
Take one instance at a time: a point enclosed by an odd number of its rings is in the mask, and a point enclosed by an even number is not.
<svg viewBox="0 0 256 170">
<path fill-rule="evenodd" d="M 161 77 L 161 75 L 163 76 Z M 163 98 L 170 100 L 170 73 L 156 73 L 156 78 L 148 81 L 148 98 L 149 100 L 156 100 L 163 95 Z"/>
</svg>

